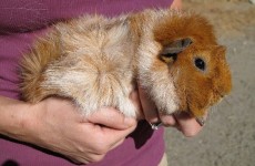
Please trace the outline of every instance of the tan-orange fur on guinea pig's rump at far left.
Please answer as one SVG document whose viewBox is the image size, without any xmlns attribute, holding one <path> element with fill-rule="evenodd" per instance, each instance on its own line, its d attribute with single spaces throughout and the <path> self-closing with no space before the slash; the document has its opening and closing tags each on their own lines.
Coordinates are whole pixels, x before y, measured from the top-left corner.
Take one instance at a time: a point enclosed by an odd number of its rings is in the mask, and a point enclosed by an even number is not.
<svg viewBox="0 0 255 166">
<path fill-rule="evenodd" d="M 57 89 L 47 89 L 41 86 L 45 80 L 44 70 L 55 59 L 61 56 L 59 45 L 59 35 L 51 33 L 44 39 L 39 39 L 31 49 L 29 55 L 21 61 L 21 91 L 26 101 L 37 103 L 45 96 L 57 95 Z"/>
</svg>

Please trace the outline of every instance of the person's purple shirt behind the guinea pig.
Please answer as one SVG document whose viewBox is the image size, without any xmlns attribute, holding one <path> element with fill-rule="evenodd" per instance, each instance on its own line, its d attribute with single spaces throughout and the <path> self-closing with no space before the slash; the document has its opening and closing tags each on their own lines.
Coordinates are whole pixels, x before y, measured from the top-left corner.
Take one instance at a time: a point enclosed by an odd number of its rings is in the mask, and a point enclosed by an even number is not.
<svg viewBox="0 0 255 166">
<path fill-rule="evenodd" d="M 169 8 L 172 0 L 8 0 L 0 1 L 0 95 L 19 100 L 18 63 L 33 41 L 58 20 L 84 13 L 109 17 L 145 8 Z M 164 153 L 163 128 L 142 121 L 122 145 L 91 166 L 155 166 Z M 0 136 L 0 165 L 69 166 L 61 156 Z"/>
</svg>

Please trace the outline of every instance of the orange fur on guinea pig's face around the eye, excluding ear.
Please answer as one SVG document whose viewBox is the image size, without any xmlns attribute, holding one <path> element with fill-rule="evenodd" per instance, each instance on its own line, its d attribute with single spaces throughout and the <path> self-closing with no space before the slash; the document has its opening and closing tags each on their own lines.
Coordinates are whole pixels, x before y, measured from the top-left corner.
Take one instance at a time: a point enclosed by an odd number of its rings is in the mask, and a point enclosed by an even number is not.
<svg viewBox="0 0 255 166">
<path fill-rule="evenodd" d="M 192 45 L 180 53 L 178 60 L 171 66 L 171 75 L 177 84 L 178 96 L 182 96 L 180 110 L 191 111 L 201 117 L 207 108 L 231 91 L 231 77 L 223 46 Z M 204 72 L 194 66 L 194 58 L 207 62 Z M 212 60 L 213 59 L 213 60 Z"/>
</svg>

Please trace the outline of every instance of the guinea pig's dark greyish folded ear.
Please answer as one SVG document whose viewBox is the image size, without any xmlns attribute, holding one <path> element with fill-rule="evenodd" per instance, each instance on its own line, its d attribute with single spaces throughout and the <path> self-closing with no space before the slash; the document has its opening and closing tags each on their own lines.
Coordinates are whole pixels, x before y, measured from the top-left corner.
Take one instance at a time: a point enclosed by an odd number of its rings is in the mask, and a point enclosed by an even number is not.
<svg viewBox="0 0 255 166">
<path fill-rule="evenodd" d="M 172 63 L 177 59 L 177 54 L 191 45 L 193 41 L 190 38 L 178 39 L 170 44 L 165 44 L 160 54 L 160 58 L 166 62 Z"/>
</svg>

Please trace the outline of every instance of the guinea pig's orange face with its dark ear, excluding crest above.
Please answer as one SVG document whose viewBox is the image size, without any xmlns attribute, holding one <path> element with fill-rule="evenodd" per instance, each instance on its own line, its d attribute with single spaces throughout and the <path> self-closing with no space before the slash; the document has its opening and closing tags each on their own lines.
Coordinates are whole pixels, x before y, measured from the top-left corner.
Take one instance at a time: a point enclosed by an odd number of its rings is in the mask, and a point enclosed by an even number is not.
<svg viewBox="0 0 255 166">
<path fill-rule="evenodd" d="M 231 92 L 231 72 L 222 45 L 197 44 L 184 38 L 163 45 L 159 55 L 169 68 L 178 98 L 177 110 L 203 117 Z"/>
</svg>

